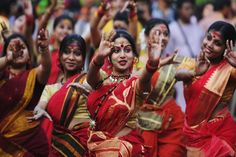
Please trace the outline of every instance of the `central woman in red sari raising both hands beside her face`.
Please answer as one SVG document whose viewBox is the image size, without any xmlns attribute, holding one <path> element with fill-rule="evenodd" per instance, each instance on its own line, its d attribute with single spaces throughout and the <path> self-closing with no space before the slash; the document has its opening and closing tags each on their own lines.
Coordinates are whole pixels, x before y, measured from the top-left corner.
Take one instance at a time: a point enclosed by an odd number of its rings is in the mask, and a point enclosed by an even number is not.
<svg viewBox="0 0 236 157">
<path fill-rule="evenodd" d="M 104 33 L 99 49 L 90 63 L 87 81 L 95 90 L 88 97 L 91 156 L 148 155 L 136 128 L 136 111 L 151 91 L 151 77 L 159 67 L 161 42 L 150 39 L 148 62 L 140 77 L 131 76 L 137 57 L 133 38 L 123 30 Z M 112 74 L 100 73 L 109 57 Z"/>
</svg>

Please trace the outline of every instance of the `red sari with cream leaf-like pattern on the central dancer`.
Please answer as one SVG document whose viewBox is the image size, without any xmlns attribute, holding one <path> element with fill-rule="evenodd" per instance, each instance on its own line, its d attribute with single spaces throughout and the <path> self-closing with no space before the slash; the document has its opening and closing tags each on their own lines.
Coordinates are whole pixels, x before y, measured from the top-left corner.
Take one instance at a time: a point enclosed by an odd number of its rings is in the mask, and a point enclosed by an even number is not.
<svg viewBox="0 0 236 157">
<path fill-rule="evenodd" d="M 105 84 L 88 97 L 88 109 L 94 117 L 99 100 L 114 86 L 117 86 L 102 102 L 96 116 L 95 129 L 90 131 L 88 148 L 90 156 L 133 157 L 144 156 L 143 139 L 136 129 L 123 137 L 115 137 L 135 113 L 136 78 L 132 77 L 117 85 Z"/>
</svg>

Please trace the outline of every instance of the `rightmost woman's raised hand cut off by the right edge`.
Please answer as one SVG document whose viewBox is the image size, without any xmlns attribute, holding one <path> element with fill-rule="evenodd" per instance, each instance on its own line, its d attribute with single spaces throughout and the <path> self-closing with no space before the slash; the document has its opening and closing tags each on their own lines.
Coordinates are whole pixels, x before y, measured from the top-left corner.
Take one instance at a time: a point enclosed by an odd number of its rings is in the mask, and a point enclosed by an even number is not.
<svg viewBox="0 0 236 157">
<path fill-rule="evenodd" d="M 227 59 L 228 63 L 233 67 L 236 67 L 236 46 L 233 41 L 226 41 L 226 49 L 224 57 Z"/>
</svg>

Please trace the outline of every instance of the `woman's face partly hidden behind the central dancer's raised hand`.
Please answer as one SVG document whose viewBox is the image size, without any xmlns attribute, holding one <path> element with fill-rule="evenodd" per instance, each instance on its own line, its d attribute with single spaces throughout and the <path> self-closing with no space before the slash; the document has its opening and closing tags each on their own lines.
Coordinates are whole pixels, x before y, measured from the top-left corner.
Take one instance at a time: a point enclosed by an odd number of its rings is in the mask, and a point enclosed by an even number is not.
<svg viewBox="0 0 236 157">
<path fill-rule="evenodd" d="M 167 44 L 169 42 L 169 31 L 168 31 L 166 25 L 164 25 L 164 24 L 157 24 L 156 26 L 154 26 L 151 29 L 147 41 L 150 38 L 152 38 L 153 35 L 156 34 L 156 33 L 158 34 L 157 44 L 159 44 L 159 42 L 160 42 L 159 39 L 160 39 L 160 37 L 162 37 L 161 51 L 163 51 L 166 48 L 166 46 L 167 46 Z"/>
</svg>

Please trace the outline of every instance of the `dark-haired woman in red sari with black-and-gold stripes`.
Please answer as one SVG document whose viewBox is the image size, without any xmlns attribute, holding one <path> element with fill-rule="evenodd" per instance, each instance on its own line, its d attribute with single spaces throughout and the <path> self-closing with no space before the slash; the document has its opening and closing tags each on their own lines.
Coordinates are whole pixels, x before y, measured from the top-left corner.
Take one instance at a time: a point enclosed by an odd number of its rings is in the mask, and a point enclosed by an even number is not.
<svg viewBox="0 0 236 157">
<path fill-rule="evenodd" d="M 42 128 L 47 133 L 50 156 L 83 156 L 86 153 L 89 116 L 86 97 L 68 84 L 85 82 L 82 72 L 86 44 L 80 35 L 66 36 L 60 45 L 59 62 L 63 71 L 60 82 L 47 85 L 31 117 L 44 119 Z M 53 124 L 52 124 L 53 123 Z"/>
</svg>

